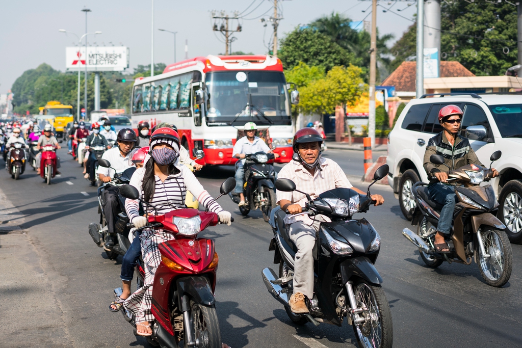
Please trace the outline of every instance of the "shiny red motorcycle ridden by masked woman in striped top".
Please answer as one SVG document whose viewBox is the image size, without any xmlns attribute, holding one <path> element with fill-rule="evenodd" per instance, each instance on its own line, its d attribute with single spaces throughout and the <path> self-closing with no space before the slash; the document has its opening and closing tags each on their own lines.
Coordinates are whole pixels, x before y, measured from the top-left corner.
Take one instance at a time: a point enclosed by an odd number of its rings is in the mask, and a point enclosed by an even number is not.
<svg viewBox="0 0 522 348">
<path fill-rule="evenodd" d="M 235 179 L 228 178 L 221 184 L 217 198 L 227 195 L 234 187 Z M 139 199 L 138 190 L 131 185 L 122 185 L 120 194 Z M 218 222 L 214 212 L 177 209 L 164 215 L 150 215 L 148 226 L 143 227 L 162 229 L 176 237 L 159 245 L 161 263 L 154 277 L 151 308 L 156 320 L 151 326 L 152 335 L 146 337 L 151 345 L 174 348 L 184 340 L 184 347 L 221 348 L 214 296 L 219 257 L 211 239 L 197 238 L 199 232 Z M 127 226 L 132 228 L 134 225 L 129 223 Z M 138 284 L 143 284 L 141 262 L 136 270 Z M 121 288 L 114 289 L 115 296 L 121 293 Z M 125 308 L 122 313 L 136 328 L 134 316 Z"/>
</svg>

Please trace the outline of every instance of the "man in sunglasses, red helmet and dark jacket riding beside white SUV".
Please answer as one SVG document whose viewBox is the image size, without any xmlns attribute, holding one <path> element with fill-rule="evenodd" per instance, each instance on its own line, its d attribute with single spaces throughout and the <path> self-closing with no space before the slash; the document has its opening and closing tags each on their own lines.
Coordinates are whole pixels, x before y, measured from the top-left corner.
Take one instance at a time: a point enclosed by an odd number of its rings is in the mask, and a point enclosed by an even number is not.
<svg viewBox="0 0 522 348">
<path fill-rule="evenodd" d="M 428 141 L 424 152 L 424 170 L 430 178 L 428 193 L 437 203 L 443 205 L 441 217 L 438 220 L 435 235 L 435 249 L 438 253 L 449 253 L 445 239 L 449 238 L 452 229 L 453 211 L 457 203 L 454 186 L 448 183 L 448 171 L 460 168 L 463 165 L 480 163 L 477 155 L 469 145 L 469 140 L 458 134 L 462 121 L 462 110 L 457 105 L 446 105 L 438 112 L 438 122 L 443 130 Z M 445 165 L 436 165 L 430 162 L 432 154 L 444 157 Z M 492 168 L 493 177 L 499 172 Z"/>
</svg>

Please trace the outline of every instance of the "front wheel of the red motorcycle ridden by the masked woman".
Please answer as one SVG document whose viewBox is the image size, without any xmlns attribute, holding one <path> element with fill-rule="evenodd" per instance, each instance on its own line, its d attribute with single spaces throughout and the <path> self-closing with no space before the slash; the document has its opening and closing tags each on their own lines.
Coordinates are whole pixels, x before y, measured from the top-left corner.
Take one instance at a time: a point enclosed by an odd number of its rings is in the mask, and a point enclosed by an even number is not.
<svg viewBox="0 0 522 348">
<path fill-rule="evenodd" d="M 216 306 L 204 306 L 191 301 L 191 322 L 183 323 L 185 339 L 183 348 L 189 348 L 186 330 L 192 330 L 192 337 L 201 348 L 221 348 L 221 332 L 219 331 L 218 314 Z"/>
</svg>

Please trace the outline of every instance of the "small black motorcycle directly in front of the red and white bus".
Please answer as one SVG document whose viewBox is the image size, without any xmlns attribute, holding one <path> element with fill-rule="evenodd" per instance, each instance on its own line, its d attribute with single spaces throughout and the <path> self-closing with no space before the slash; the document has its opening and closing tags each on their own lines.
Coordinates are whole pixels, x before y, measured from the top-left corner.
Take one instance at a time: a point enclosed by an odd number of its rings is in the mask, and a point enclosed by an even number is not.
<svg viewBox="0 0 522 348">
<path fill-rule="evenodd" d="M 245 156 L 243 168 L 245 170 L 245 185 L 243 195 L 245 205 L 239 207 L 242 215 L 248 215 L 250 210 L 261 209 L 263 218 L 268 222 L 270 212 L 276 207 L 276 171 L 274 166 L 267 164 L 273 160 L 273 153 L 256 152 Z M 239 196 L 229 193 L 235 203 L 239 203 Z"/>
</svg>

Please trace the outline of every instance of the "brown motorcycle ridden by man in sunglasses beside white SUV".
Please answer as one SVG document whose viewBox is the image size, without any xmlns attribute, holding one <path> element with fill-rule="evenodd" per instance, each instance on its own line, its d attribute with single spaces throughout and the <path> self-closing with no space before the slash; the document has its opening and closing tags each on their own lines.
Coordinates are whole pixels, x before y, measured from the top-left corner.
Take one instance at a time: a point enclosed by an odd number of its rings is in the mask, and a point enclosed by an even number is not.
<svg viewBox="0 0 522 348">
<path fill-rule="evenodd" d="M 491 163 L 501 155 L 501 151 L 493 152 Z M 445 165 L 441 155 L 431 155 L 430 162 Z M 458 202 L 453 213 L 451 241 L 447 242 L 449 254 L 437 253 L 434 247 L 443 206 L 431 199 L 428 184 L 417 182 L 411 186 L 411 194 L 417 203 L 411 224 L 417 225 L 417 233 L 404 229 L 402 235 L 419 248 L 426 266 L 436 268 L 444 261 L 471 265 L 475 261 L 488 285 L 501 287 L 507 283 L 513 268 L 511 243 L 504 232 L 506 226 L 496 218 L 499 202 L 493 187 L 479 186 L 492 177 L 491 164 L 489 169 L 468 164 L 448 172 L 448 183 L 464 185 L 455 186 Z"/>
</svg>

